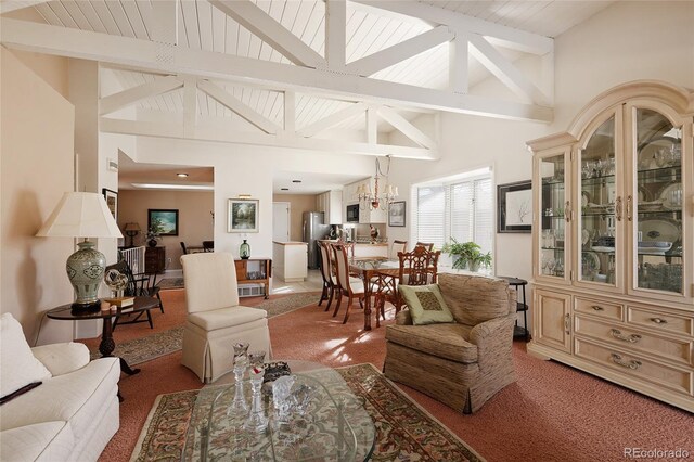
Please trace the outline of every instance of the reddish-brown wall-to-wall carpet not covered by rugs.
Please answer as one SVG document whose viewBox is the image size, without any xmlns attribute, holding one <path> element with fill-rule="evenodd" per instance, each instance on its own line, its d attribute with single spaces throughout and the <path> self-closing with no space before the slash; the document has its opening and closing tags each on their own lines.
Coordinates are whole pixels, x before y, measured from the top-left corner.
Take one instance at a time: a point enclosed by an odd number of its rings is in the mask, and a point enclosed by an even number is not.
<svg viewBox="0 0 694 462">
<path fill-rule="evenodd" d="M 183 295 L 184 291 L 163 293 L 166 313 L 153 312 L 155 330 L 180 325 L 185 317 Z M 244 299 L 246 305 L 261 301 L 261 297 Z M 393 313 L 386 315 L 385 323 L 391 323 Z M 314 303 L 268 322 L 274 358 L 334 368 L 363 362 L 383 367 L 385 329 L 363 332 L 357 307 L 346 324 Z M 116 343 L 152 333 L 146 324 L 124 328 L 114 333 Z M 576 369 L 532 358 L 523 342 L 514 343 L 513 355 L 518 382 L 474 415 L 461 415 L 421 393 L 400 388 L 490 462 L 624 461 L 626 448 L 681 448 L 694 454 L 694 415 Z M 180 362 L 181 352 L 176 351 L 140 364 L 138 375 L 121 376 L 120 429 L 101 461 L 129 460 L 158 395 L 202 386 Z"/>
</svg>

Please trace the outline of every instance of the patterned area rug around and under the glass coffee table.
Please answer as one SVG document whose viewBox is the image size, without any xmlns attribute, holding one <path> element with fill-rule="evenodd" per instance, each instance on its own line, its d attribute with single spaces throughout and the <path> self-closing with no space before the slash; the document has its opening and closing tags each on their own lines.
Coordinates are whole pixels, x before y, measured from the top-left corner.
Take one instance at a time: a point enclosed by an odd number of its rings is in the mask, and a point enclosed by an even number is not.
<svg viewBox="0 0 694 462">
<path fill-rule="evenodd" d="M 369 419 L 375 425 L 374 449 L 371 460 L 373 461 L 478 461 L 479 455 L 467 447 L 460 438 L 451 434 L 446 427 L 440 425 L 426 411 L 416 406 L 407 395 L 385 378 L 372 364 L 358 364 L 339 368 L 336 370 L 339 375 L 325 375 L 324 373 L 311 373 L 321 380 L 335 397 L 354 394 L 363 398 L 365 414 L 358 412 L 355 418 Z M 342 376 L 342 380 L 339 378 Z M 327 381 L 327 382 L 325 382 Z M 214 393 L 205 394 L 198 399 L 198 390 L 180 392 L 169 395 L 160 395 L 150 413 L 147 424 L 142 431 L 138 446 L 136 447 L 131 461 L 145 462 L 163 459 L 180 460 L 184 451 L 184 441 L 179 433 L 183 428 L 192 425 L 194 428 L 204 424 L 209 415 L 213 397 L 221 394 L 229 397 L 231 394 L 224 392 L 226 386 L 213 386 Z M 197 401 L 196 401 L 197 399 Z M 204 405 L 201 405 L 203 402 Z M 193 406 L 196 411 L 193 412 Z M 330 410 L 327 403 L 325 409 Z M 221 410 L 223 411 L 223 409 Z M 220 412 L 221 412 L 220 411 Z M 330 415 L 331 412 L 327 412 Z M 221 414 L 226 418 L 226 413 Z M 314 428 L 321 428 L 317 422 Z M 356 424 L 352 420 L 351 424 Z M 370 425 L 370 424 L 368 424 Z M 210 436 L 216 451 L 210 458 L 220 455 L 230 457 L 233 449 L 235 429 L 233 425 L 216 425 L 215 435 Z M 356 426 L 359 431 L 359 425 Z M 319 431 L 320 432 L 320 431 Z M 359 435 L 363 435 L 359 433 Z M 197 435 L 196 435 L 197 437 Z M 196 460 L 197 452 L 192 450 L 193 439 L 185 444 L 185 457 L 183 460 Z M 363 438 L 358 438 L 363 440 Z M 307 440 L 307 448 L 310 448 L 310 439 Z M 371 439 L 369 439 L 371 441 Z M 281 445 L 278 449 L 284 448 L 288 452 L 295 449 L 293 445 Z M 333 448 L 334 449 L 334 448 Z M 322 448 L 318 449 L 319 451 Z M 362 446 L 358 454 L 360 459 L 371 450 L 371 447 Z M 266 457 L 271 452 L 270 447 Z M 264 450 L 260 450 L 262 453 Z M 259 460 L 270 460 L 260 455 Z M 280 458 L 282 460 L 282 458 Z M 311 459 L 314 460 L 314 459 Z M 323 460 L 319 458 L 319 460 Z M 327 460 L 333 460 L 329 458 Z"/>
</svg>

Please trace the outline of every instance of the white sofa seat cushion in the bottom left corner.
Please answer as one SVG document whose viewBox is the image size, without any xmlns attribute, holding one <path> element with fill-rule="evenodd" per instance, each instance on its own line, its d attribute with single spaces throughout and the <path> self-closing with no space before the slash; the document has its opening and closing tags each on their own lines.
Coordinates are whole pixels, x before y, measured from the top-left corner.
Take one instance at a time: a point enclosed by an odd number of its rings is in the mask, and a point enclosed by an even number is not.
<svg viewBox="0 0 694 462">
<path fill-rule="evenodd" d="M 5 429 L 0 435 L 2 460 L 67 461 L 70 460 L 75 437 L 67 422 L 41 422 Z"/>
</svg>

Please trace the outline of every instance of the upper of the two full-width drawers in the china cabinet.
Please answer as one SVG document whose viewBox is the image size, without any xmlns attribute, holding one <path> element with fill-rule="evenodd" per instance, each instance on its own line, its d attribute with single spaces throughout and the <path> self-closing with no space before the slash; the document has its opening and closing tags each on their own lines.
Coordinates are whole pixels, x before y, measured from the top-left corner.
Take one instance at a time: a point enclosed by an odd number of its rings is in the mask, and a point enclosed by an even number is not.
<svg viewBox="0 0 694 462">
<path fill-rule="evenodd" d="M 614 344 L 637 355 L 646 352 L 656 355 L 682 364 L 692 363 L 692 342 L 667 338 L 656 334 L 611 324 L 596 319 L 576 315 L 574 323 L 576 334 L 590 336 L 602 342 Z"/>
</svg>

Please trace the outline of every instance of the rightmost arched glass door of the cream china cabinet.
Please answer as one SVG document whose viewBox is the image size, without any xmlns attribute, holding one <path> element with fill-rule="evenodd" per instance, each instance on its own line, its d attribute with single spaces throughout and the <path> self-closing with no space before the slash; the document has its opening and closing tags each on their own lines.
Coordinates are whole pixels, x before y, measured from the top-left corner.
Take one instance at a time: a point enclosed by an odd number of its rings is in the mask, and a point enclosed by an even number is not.
<svg viewBox="0 0 694 462">
<path fill-rule="evenodd" d="M 627 214 L 633 222 L 635 284 L 682 294 L 682 130 L 656 111 L 634 112 L 637 172 L 629 198 L 635 204 L 627 204 Z"/>
</svg>

